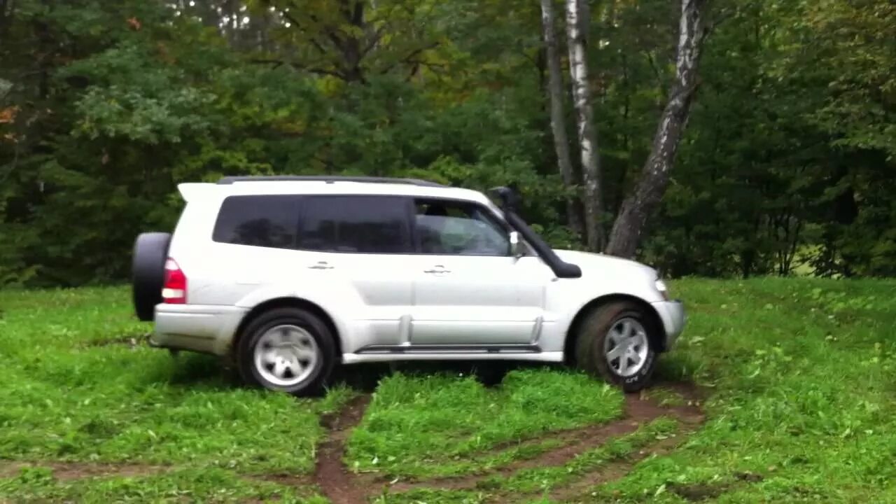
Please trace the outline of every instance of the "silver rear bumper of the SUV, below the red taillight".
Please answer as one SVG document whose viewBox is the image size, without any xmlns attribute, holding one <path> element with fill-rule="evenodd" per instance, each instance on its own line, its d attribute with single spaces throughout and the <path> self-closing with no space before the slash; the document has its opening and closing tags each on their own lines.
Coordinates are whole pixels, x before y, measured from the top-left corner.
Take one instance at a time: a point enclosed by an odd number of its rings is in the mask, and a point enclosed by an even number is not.
<svg viewBox="0 0 896 504">
<path fill-rule="evenodd" d="M 156 305 L 151 346 L 227 355 L 247 308 Z"/>
</svg>

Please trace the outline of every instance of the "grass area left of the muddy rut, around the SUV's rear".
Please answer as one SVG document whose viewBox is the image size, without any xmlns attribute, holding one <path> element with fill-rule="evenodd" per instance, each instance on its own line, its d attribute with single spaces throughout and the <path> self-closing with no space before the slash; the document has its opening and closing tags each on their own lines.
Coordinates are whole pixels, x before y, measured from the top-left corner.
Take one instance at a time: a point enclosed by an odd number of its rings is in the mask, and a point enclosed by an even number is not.
<svg viewBox="0 0 896 504">
<path fill-rule="evenodd" d="M 324 401 L 234 387 L 215 359 L 140 340 L 122 289 L 0 294 L 0 457 L 214 466 L 314 467 Z"/>
</svg>

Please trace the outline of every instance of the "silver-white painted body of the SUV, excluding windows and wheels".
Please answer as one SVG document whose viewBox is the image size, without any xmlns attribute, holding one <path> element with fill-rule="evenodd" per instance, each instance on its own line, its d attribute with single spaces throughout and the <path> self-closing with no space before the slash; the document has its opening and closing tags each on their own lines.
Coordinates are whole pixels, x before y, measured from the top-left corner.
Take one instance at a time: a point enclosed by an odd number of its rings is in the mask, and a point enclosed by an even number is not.
<svg viewBox="0 0 896 504">
<path fill-rule="evenodd" d="M 657 272 L 633 261 L 556 251 L 582 269 L 558 278 L 541 257 L 356 254 L 212 240 L 220 206 L 236 195 L 388 195 L 448 198 L 502 210 L 482 193 L 353 181 L 236 181 L 179 186 L 187 202 L 168 256 L 188 278 L 185 304 L 158 304 L 151 343 L 227 355 L 255 309 L 283 300 L 313 306 L 335 329 L 343 363 L 399 360 L 564 361 L 583 309 L 625 298 L 649 306 L 672 347 L 685 326 Z"/>
</svg>

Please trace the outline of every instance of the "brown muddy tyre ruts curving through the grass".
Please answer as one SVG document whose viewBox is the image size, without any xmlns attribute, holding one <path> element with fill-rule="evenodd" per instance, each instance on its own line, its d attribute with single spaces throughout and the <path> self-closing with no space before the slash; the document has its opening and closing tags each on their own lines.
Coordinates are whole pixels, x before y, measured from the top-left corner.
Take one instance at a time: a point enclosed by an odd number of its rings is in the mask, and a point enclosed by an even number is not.
<svg viewBox="0 0 896 504">
<path fill-rule="evenodd" d="M 333 504 L 357 504 L 367 502 L 370 498 L 388 492 L 401 493 L 418 489 L 467 490 L 480 487 L 487 479 L 495 476 L 510 477 L 525 469 L 536 467 L 562 466 L 576 456 L 607 443 L 611 439 L 625 436 L 638 429 L 646 422 L 661 416 L 678 421 L 679 429 L 675 437 L 658 440 L 649 447 L 643 448 L 607 464 L 600 465 L 593 471 L 580 475 L 571 484 L 551 492 L 551 498 L 560 501 L 575 501 L 584 497 L 587 491 L 600 483 L 610 482 L 628 474 L 635 464 L 651 455 L 668 453 L 687 438 L 687 434 L 696 430 L 704 415 L 700 408 L 702 395 L 692 386 L 686 384 L 664 384 L 675 390 L 685 405 L 662 406 L 655 399 L 644 398 L 639 394 L 625 396 L 625 415 L 622 419 L 601 425 L 590 425 L 573 430 L 563 430 L 546 434 L 540 439 L 530 439 L 522 444 L 534 444 L 542 439 L 554 439 L 559 446 L 531 458 L 516 460 L 491 471 L 461 477 L 438 478 L 426 481 L 388 481 L 385 476 L 375 474 L 354 474 L 343 463 L 345 442 L 351 430 L 364 417 L 370 395 L 358 395 L 349 401 L 337 414 L 324 415 L 321 419 L 326 430 L 325 439 L 318 448 L 314 477 L 293 474 L 266 474 L 263 476 L 242 476 L 246 479 L 278 482 L 290 486 L 316 485 Z M 492 448 L 497 452 L 510 448 L 511 443 Z M 0 462 L 0 477 L 11 476 L 22 467 L 31 464 Z M 74 480 L 95 476 L 141 476 L 158 474 L 170 470 L 164 465 L 129 465 L 129 464 L 89 464 L 89 463 L 41 463 L 41 466 L 53 469 L 58 480 Z M 702 489 L 698 489 L 701 490 Z M 682 489 L 694 491 L 694 489 Z"/>
</svg>

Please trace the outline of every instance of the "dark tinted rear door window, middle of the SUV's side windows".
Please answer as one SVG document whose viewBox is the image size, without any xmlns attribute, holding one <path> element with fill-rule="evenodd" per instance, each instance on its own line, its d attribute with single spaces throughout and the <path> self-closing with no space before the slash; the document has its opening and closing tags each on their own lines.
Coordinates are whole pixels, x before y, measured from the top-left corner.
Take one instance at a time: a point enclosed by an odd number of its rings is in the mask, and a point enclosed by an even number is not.
<svg viewBox="0 0 896 504">
<path fill-rule="evenodd" d="M 306 196 L 298 248 L 356 254 L 411 251 L 408 200 L 392 196 Z"/>
</svg>

